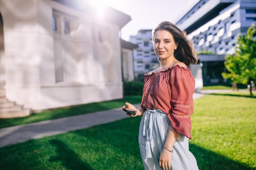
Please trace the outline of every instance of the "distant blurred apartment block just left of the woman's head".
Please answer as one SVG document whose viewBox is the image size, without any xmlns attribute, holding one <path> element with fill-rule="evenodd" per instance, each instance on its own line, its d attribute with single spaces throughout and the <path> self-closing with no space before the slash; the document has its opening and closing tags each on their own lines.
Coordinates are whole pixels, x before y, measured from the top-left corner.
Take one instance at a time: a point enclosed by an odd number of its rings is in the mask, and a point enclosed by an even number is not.
<svg viewBox="0 0 256 170">
<path fill-rule="evenodd" d="M 154 70 L 159 66 L 151 43 L 151 29 L 141 29 L 137 35 L 130 36 L 130 42 L 137 44 L 139 48 L 133 50 L 134 72 L 136 79 L 144 79 L 144 73 Z"/>
</svg>

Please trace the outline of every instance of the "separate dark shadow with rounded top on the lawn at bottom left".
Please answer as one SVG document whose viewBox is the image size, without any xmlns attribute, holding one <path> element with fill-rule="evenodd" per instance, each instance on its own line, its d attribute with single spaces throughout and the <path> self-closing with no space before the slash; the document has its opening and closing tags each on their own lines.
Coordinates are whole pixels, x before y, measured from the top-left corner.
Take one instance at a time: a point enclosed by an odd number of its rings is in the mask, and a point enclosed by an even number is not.
<svg viewBox="0 0 256 170">
<path fill-rule="evenodd" d="M 53 139 L 50 140 L 49 143 L 55 146 L 56 153 L 58 154 L 55 157 L 51 157 L 49 159 L 50 162 L 59 161 L 67 170 L 94 170 L 88 163 L 83 162 L 79 158 L 79 155 L 70 149 L 63 141 Z"/>
</svg>

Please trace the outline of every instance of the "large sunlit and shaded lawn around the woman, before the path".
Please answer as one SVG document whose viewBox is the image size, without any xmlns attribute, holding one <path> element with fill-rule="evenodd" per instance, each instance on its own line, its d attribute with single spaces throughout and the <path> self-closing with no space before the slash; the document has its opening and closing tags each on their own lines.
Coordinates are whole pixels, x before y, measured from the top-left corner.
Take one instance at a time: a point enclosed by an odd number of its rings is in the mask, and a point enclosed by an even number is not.
<svg viewBox="0 0 256 170">
<path fill-rule="evenodd" d="M 256 97 L 247 93 L 196 99 L 190 150 L 200 170 L 256 168 Z M 142 170 L 138 128 L 127 118 L 0 148 L 1 170 Z"/>
</svg>

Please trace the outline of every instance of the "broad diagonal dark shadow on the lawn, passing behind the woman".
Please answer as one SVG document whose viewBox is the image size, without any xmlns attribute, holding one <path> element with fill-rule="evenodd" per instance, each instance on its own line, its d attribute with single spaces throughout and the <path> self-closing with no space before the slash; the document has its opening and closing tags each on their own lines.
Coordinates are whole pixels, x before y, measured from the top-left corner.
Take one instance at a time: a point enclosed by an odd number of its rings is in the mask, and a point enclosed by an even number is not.
<svg viewBox="0 0 256 170">
<path fill-rule="evenodd" d="M 140 119 L 137 118 L 128 118 L 120 121 L 115 121 L 112 124 L 103 124 L 100 126 L 88 128 L 86 130 L 77 130 L 74 131 L 74 133 L 81 137 L 86 136 L 90 140 L 98 141 L 102 144 L 107 142 L 115 150 L 126 150 L 126 154 L 134 155 L 135 157 L 137 157 L 137 160 L 141 161 L 138 144 L 139 121 Z M 130 132 L 131 130 L 132 132 Z M 215 152 L 206 150 L 194 144 L 190 144 L 189 148 L 193 155 L 195 155 L 200 170 L 253 169 L 243 163 L 236 162 L 232 159 L 229 159 L 228 157 L 219 155 Z"/>
</svg>

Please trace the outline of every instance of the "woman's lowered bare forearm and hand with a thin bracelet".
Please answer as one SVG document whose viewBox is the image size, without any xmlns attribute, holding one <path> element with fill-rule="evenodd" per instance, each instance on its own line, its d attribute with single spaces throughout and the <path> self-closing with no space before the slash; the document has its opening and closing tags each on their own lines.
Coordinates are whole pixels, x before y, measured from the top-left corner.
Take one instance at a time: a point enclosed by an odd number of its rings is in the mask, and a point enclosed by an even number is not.
<svg viewBox="0 0 256 170">
<path fill-rule="evenodd" d="M 173 149 L 173 145 L 177 140 L 178 135 L 179 133 L 170 125 L 165 139 L 164 148 L 159 158 L 159 166 L 162 167 L 163 170 L 171 169 L 171 157 L 173 153 L 170 152 L 170 150 Z"/>
</svg>

